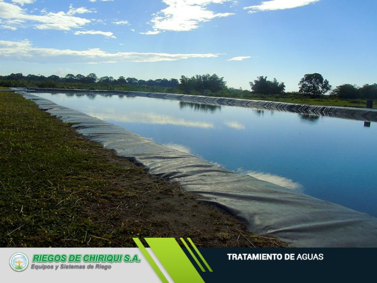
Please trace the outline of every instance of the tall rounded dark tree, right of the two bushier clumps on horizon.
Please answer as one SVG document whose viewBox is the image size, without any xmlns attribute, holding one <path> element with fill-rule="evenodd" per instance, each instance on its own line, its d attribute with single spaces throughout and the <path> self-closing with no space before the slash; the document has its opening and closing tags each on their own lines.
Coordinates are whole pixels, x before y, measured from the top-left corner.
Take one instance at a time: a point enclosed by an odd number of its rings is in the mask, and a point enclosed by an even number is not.
<svg viewBox="0 0 377 283">
<path fill-rule="evenodd" d="M 299 82 L 299 93 L 319 97 L 331 90 L 328 80 L 325 80 L 321 74 L 306 74 Z"/>
</svg>

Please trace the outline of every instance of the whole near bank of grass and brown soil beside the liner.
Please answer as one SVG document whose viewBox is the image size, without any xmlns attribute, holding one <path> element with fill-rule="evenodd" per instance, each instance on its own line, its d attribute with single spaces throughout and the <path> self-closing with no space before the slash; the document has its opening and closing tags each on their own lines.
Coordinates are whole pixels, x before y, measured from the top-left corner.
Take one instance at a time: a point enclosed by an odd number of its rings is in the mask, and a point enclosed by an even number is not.
<svg viewBox="0 0 377 283">
<path fill-rule="evenodd" d="M 86 140 L 31 101 L 0 93 L 0 246 L 284 246 Z"/>
</svg>

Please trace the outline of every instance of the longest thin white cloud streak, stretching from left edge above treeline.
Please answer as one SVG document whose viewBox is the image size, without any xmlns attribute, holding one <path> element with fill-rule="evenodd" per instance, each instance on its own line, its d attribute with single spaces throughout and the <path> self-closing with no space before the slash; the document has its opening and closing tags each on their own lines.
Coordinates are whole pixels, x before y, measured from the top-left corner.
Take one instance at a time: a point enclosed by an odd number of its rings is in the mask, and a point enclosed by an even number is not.
<svg viewBox="0 0 377 283">
<path fill-rule="evenodd" d="M 70 50 L 34 47 L 28 40 L 0 40 L 0 59 L 38 63 L 109 63 L 109 62 L 160 62 L 190 58 L 216 58 L 218 54 L 169 54 L 154 52 L 110 53 L 100 48 Z"/>
</svg>

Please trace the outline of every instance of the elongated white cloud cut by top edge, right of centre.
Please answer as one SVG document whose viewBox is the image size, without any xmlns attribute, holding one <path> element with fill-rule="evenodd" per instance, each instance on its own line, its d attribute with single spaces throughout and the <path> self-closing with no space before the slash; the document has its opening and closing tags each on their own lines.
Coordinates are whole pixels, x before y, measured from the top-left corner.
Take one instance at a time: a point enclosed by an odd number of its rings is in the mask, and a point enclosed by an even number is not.
<svg viewBox="0 0 377 283">
<path fill-rule="evenodd" d="M 320 0 L 271 0 L 263 1 L 260 5 L 244 7 L 244 9 L 250 10 L 249 13 L 255 13 L 259 11 L 285 10 L 314 4 L 319 1 Z"/>
</svg>

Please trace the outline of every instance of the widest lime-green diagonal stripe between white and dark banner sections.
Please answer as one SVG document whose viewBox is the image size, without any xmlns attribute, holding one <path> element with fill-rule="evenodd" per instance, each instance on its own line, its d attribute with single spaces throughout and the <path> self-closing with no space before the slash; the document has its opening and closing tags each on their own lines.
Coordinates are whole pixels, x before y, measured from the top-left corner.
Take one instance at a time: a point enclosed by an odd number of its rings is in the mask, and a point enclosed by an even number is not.
<svg viewBox="0 0 377 283">
<path fill-rule="evenodd" d="M 152 251 L 176 283 L 204 283 L 174 238 L 145 238 Z"/>
</svg>

